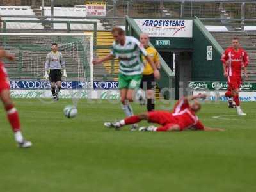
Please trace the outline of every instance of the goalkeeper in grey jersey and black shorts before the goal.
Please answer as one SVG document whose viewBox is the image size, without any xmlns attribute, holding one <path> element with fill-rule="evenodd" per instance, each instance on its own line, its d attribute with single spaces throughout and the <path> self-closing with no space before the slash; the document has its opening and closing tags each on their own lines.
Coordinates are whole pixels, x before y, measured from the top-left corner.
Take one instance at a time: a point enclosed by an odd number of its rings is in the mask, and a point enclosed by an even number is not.
<svg viewBox="0 0 256 192">
<path fill-rule="evenodd" d="M 58 93 L 61 90 L 61 67 L 63 68 L 63 76 L 67 77 L 67 72 L 65 68 L 65 60 L 61 52 L 58 52 L 58 44 L 52 44 L 52 51 L 49 52 L 46 56 L 45 61 L 45 79 L 50 79 L 51 81 L 51 89 L 52 89 L 52 97 L 54 101 L 58 99 Z M 48 71 L 50 73 L 48 75 Z"/>
</svg>

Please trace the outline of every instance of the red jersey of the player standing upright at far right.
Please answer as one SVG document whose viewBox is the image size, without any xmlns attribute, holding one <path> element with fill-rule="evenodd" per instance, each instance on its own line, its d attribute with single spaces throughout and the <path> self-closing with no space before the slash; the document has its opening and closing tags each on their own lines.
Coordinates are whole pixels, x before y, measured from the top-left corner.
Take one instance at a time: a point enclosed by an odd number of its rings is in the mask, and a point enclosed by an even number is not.
<svg viewBox="0 0 256 192">
<path fill-rule="evenodd" d="M 247 67 L 249 63 L 249 57 L 244 49 L 239 48 L 235 51 L 233 47 L 228 47 L 221 56 L 223 65 L 227 66 L 228 76 L 241 77 L 241 68 Z"/>
</svg>

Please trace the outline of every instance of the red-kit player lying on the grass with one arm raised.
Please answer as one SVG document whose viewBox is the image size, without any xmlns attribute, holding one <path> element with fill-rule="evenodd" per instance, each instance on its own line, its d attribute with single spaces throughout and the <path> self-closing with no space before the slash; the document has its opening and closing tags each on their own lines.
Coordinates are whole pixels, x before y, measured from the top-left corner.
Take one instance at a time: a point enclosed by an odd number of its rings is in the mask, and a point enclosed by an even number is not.
<svg viewBox="0 0 256 192">
<path fill-rule="evenodd" d="M 205 127 L 196 112 L 201 108 L 198 102 L 199 98 L 205 98 L 206 95 L 199 94 L 196 96 L 184 97 L 177 102 L 172 113 L 169 111 L 150 111 L 141 113 L 140 115 L 130 116 L 119 122 L 106 122 L 106 127 L 115 127 L 120 129 L 124 125 L 136 124 L 141 120 L 147 120 L 151 123 L 160 124 L 161 127 L 149 126 L 140 127 L 139 131 L 183 131 L 186 129 L 202 130 L 202 131 L 224 131 L 223 129 Z"/>
</svg>

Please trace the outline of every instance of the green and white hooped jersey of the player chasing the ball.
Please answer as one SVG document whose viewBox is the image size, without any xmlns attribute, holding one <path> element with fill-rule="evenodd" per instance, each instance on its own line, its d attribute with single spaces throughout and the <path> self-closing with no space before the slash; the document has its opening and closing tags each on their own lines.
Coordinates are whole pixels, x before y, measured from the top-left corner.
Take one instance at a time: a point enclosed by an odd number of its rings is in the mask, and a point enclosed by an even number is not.
<svg viewBox="0 0 256 192">
<path fill-rule="evenodd" d="M 147 56 L 143 45 L 133 36 L 125 36 L 125 44 L 113 42 L 111 54 L 120 60 L 119 72 L 126 76 L 142 74 L 144 63 L 142 55 Z"/>
</svg>

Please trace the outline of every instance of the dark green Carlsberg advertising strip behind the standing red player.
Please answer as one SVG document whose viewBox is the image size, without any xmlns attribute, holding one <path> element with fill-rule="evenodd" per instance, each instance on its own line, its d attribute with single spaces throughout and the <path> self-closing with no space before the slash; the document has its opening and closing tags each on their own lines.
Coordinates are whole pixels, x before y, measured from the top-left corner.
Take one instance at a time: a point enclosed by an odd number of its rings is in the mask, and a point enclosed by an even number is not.
<svg viewBox="0 0 256 192">
<path fill-rule="evenodd" d="M 191 81 L 189 88 L 192 90 L 212 90 L 212 91 L 225 91 L 228 89 L 227 82 L 209 82 L 209 81 Z M 256 83 L 242 83 L 240 86 L 241 91 L 256 91 Z"/>
</svg>

